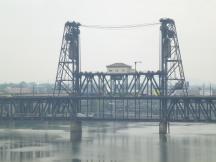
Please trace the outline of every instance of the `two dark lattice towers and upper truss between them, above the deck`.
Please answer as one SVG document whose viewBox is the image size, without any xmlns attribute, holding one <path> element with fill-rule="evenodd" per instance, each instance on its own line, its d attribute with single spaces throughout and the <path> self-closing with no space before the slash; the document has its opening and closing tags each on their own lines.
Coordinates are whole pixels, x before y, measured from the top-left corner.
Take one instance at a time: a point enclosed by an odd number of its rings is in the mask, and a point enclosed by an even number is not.
<svg viewBox="0 0 216 162">
<path fill-rule="evenodd" d="M 187 94 L 182 59 L 178 44 L 175 22 L 161 19 L 161 60 L 160 71 L 131 74 L 106 74 L 80 72 L 79 26 L 76 22 L 67 22 L 64 28 L 62 46 L 56 75 L 54 95 L 68 94 L 79 96 L 91 93 L 104 95 L 144 95 L 144 85 L 151 81 L 153 86 L 148 95 L 169 96 L 177 90 Z M 155 79 L 155 74 L 160 74 Z M 162 75 L 161 75 L 162 74 Z M 153 77 L 152 77 L 153 76 Z M 142 80 L 144 78 L 144 80 Z M 145 84 L 145 79 L 146 83 Z M 84 87 L 84 88 L 83 88 Z"/>
</svg>

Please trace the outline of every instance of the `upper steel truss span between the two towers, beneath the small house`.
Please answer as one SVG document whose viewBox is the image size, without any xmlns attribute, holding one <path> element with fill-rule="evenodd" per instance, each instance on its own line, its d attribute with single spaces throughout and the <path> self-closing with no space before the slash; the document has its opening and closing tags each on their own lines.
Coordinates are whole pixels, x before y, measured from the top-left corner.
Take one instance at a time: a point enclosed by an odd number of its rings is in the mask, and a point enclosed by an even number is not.
<svg viewBox="0 0 216 162">
<path fill-rule="evenodd" d="M 81 96 L 159 96 L 160 72 L 80 73 Z"/>
</svg>

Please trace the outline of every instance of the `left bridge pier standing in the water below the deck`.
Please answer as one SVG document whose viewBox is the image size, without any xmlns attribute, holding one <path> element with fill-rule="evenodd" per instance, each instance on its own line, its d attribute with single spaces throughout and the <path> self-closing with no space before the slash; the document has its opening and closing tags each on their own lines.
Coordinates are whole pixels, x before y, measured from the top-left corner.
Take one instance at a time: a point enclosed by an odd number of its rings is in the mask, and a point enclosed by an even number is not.
<svg viewBox="0 0 216 162">
<path fill-rule="evenodd" d="M 70 140 L 71 142 L 81 141 L 82 137 L 82 122 L 73 120 L 70 122 Z"/>
</svg>

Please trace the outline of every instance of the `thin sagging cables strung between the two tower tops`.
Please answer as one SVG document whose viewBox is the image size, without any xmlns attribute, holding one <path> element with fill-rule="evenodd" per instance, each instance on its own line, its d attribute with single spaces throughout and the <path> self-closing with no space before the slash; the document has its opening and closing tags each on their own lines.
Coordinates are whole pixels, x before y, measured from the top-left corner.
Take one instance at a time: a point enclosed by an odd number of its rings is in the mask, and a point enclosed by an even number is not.
<svg viewBox="0 0 216 162">
<path fill-rule="evenodd" d="M 104 25 L 85 25 L 81 24 L 81 27 L 93 28 L 93 29 L 127 29 L 127 28 L 141 28 L 147 26 L 159 25 L 160 23 L 148 23 L 148 24 L 134 24 L 134 25 L 114 25 L 114 26 L 104 26 Z"/>
</svg>

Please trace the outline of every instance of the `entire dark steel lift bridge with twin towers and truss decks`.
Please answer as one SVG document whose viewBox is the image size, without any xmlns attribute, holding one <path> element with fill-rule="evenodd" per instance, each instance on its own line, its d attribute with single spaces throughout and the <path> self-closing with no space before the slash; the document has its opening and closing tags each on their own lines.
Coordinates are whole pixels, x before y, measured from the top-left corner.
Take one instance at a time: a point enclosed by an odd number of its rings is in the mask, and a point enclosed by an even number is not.
<svg viewBox="0 0 216 162">
<path fill-rule="evenodd" d="M 158 71 L 92 73 L 80 71 L 80 27 L 66 22 L 52 96 L 0 97 L 0 119 L 216 121 L 216 97 L 188 96 L 175 22 L 160 19 Z M 118 26 L 119 28 L 136 26 Z"/>
</svg>

